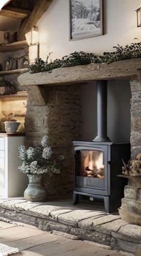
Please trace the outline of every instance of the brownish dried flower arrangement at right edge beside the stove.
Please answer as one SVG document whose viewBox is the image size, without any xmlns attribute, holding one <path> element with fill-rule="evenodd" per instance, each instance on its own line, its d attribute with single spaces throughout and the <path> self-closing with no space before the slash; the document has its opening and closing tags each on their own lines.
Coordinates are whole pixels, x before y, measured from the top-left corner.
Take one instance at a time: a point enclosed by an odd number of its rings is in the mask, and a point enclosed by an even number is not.
<svg viewBox="0 0 141 256">
<path fill-rule="evenodd" d="M 123 161 L 123 160 L 122 160 Z M 122 173 L 128 176 L 141 176 L 141 153 L 137 154 L 135 159 L 128 161 L 128 164 L 122 166 Z"/>
</svg>

